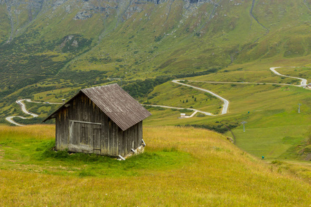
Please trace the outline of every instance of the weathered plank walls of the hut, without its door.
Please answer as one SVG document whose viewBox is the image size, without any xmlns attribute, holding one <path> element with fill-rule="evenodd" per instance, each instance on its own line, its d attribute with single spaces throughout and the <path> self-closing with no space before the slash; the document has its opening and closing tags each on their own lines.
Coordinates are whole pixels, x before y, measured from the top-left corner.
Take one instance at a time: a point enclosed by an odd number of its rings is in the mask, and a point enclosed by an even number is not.
<svg viewBox="0 0 311 207">
<path fill-rule="evenodd" d="M 70 137 L 70 120 L 101 123 L 101 155 L 127 155 L 131 148 L 138 148 L 142 143 L 142 121 L 122 131 L 111 119 L 88 99 L 86 95 L 78 95 L 68 108 L 59 111 L 56 117 L 56 149 L 68 148 Z M 79 143 L 79 132 L 74 133 L 75 144 Z M 82 150 L 77 150 L 82 151 Z"/>
</svg>

